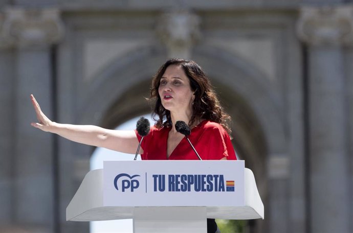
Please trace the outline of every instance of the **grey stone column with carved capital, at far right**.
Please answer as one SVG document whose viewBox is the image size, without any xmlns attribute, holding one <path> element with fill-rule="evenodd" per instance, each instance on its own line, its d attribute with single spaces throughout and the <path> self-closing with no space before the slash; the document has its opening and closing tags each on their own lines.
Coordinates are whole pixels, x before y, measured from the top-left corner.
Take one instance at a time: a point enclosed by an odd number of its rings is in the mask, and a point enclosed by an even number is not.
<svg viewBox="0 0 353 233">
<path fill-rule="evenodd" d="M 351 7 L 302 8 L 308 48 L 310 232 L 349 232 L 343 46 L 353 41 Z"/>
</svg>

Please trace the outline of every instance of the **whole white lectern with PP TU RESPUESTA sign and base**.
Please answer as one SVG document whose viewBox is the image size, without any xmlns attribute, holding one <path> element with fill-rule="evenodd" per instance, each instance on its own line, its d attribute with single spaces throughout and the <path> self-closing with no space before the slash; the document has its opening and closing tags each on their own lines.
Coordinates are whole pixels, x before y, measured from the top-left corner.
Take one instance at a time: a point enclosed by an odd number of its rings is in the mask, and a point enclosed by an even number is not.
<svg viewBox="0 0 353 233">
<path fill-rule="evenodd" d="M 244 160 L 104 161 L 86 174 L 68 221 L 133 219 L 134 232 L 207 232 L 206 219 L 264 217 Z"/>
</svg>

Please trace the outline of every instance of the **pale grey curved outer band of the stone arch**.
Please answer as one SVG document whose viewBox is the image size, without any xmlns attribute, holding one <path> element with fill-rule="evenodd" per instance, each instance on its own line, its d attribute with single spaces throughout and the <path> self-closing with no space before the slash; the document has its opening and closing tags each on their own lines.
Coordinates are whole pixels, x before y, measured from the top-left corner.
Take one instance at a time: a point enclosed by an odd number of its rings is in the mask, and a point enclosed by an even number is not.
<svg viewBox="0 0 353 233">
<path fill-rule="evenodd" d="M 284 150 L 278 148 L 278 145 L 285 145 L 280 97 L 276 96 L 276 91 L 267 84 L 265 75 L 248 62 L 219 48 L 198 46 L 193 54 L 193 59 L 203 66 L 212 81 L 219 83 L 217 91 L 225 92 L 227 96 L 234 95 L 237 101 L 249 105 L 266 134 L 269 152 L 278 153 L 278 150 Z M 119 57 L 108 64 L 88 90 L 87 98 L 79 111 L 82 113 L 79 123 L 93 122 L 101 125 L 102 115 L 116 105 L 119 99 L 120 101 L 129 98 L 141 99 L 141 103 L 144 104 L 143 97 L 149 96 L 151 77 L 165 60 L 164 50 L 150 46 L 131 52 L 124 58 Z M 149 110 L 146 106 L 138 106 L 141 108 L 139 112 Z"/>
</svg>

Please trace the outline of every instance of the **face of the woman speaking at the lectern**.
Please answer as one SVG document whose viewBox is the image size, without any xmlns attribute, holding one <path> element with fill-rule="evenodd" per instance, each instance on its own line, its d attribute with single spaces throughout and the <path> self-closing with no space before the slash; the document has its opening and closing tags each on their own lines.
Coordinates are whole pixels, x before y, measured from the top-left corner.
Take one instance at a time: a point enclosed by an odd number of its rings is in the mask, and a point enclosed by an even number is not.
<svg viewBox="0 0 353 233">
<path fill-rule="evenodd" d="M 184 111 L 192 114 L 194 92 L 191 90 L 189 78 L 180 65 L 169 65 L 158 88 L 162 105 L 170 112 Z"/>
</svg>

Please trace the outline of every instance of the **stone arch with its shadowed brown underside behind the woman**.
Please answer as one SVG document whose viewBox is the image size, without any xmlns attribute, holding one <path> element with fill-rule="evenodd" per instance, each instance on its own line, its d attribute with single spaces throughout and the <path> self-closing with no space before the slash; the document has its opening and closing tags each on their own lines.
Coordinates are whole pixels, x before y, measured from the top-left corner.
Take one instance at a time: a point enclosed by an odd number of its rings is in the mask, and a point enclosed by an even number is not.
<svg viewBox="0 0 353 233">
<path fill-rule="evenodd" d="M 246 167 L 254 172 L 266 203 L 268 157 L 285 153 L 280 97 L 263 73 L 234 54 L 201 45 L 194 48 L 192 59 L 205 69 L 231 115 L 234 146 L 246 160 Z M 149 96 L 151 77 L 165 60 L 165 51 L 151 46 L 109 64 L 89 89 L 88 96 L 95 98 L 85 101 L 80 124 L 93 122 L 114 128 L 149 112 L 145 97 Z"/>
</svg>

